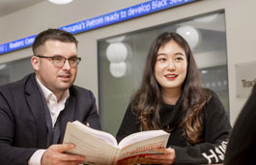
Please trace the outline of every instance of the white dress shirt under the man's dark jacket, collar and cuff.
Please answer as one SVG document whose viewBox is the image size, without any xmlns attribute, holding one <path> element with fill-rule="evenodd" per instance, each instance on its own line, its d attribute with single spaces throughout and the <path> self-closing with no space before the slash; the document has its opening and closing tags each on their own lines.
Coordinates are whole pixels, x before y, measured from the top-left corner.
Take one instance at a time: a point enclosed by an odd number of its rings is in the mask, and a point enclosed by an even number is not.
<svg viewBox="0 0 256 165">
<path fill-rule="evenodd" d="M 62 110 L 64 110 L 64 108 L 65 108 L 65 102 L 68 99 L 68 97 L 70 96 L 70 92 L 69 92 L 69 90 L 65 91 L 61 100 L 58 102 L 57 97 L 50 90 L 48 90 L 45 86 L 43 86 L 43 84 L 40 82 L 38 77 L 36 77 L 36 79 L 37 79 L 37 82 L 38 82 L 41 90 L 43 91 L 43 96 L 46 99 L 47 106 L 48 106 L 48 109 L 50 112 L 51 124 L 52 124 L 52 128 L 53 128 L 54 125 L 56 124 L 56 121 L 58 119 L 60 112 Z M 44 151 L 46 151 L 46 150 L 35 151 L 32 154 L 32 156 L 30 157 L 30 159 L 28 161 L 28 165 L 41 165 L 41 159 L 42 159 Z"/>
</svg>

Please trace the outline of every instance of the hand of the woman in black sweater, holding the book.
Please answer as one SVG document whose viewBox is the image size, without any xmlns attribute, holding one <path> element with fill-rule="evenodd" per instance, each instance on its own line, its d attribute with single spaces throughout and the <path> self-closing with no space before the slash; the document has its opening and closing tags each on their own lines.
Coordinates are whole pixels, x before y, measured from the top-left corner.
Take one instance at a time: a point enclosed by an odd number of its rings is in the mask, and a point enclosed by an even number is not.
<svg viewBox="0 0 256 165">
<path fill-rule="evenodd" d="M 157 152 L 163 152 L 163 154 L 146 155 L 148 164 L 173 164 L 175 162 L 175 150 L 168 149 L 156 149 Z"/>
</svg>

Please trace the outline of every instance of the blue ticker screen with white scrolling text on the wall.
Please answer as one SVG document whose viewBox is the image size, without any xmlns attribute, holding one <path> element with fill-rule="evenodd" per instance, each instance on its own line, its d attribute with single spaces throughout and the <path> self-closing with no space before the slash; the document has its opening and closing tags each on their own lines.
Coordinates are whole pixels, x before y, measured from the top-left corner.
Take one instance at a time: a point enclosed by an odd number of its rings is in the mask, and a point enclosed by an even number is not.
<svg viewBox="0 0 256 165">
<path fill-rule="evenodd" d="M 106 25 L 114 24 L 124 20 L 128 20 L 137 16 L 152 14 L 161 10 L 184 5 L 196 0 L 151 0 L 138 5 L 128 7 L 109 14 L 102 14 L 93 18 L 85 19 L 70 25 L 60 27 L 59 29 L 68 31 L 72 34 L 77 34 L 92 29 L 97 29 Z M 0 54 L 11 52 L 32 45 L 37 35 L 23 38 L 16 41 L 10 41 L 0 44 Z"/>
</svg>

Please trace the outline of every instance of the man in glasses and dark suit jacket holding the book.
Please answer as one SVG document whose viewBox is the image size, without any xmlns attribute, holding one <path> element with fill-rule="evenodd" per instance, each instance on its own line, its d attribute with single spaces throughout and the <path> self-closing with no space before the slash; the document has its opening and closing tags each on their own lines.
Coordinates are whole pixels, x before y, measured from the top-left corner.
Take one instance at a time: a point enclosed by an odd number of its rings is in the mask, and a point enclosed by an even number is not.
<svg viewBox="0 0 256 165">
<path fill-rule="evenodd" d="M 33 45 L 35 73 L 0 87 L 0 164 L 79 164 L 82 155 L 62 144 L 68 122 L 100 129 L 92 92 L 74 86 L 77 41 L 68 32 L 48 29 Z"/>
</svg>

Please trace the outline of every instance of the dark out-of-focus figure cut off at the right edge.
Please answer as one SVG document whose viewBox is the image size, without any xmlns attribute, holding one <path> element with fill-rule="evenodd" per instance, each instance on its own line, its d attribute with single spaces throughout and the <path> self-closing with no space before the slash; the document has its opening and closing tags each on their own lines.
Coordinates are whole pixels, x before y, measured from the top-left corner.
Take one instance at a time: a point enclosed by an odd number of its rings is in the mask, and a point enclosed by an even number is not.
<svg viewBox="0 0 256 165">
<path fill-rule="evenodd" d="M 230 135 L 225 165 L 256 164 L 256 86 L 244 104 Z"/>
</svg>

